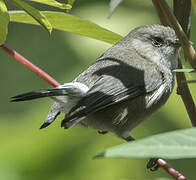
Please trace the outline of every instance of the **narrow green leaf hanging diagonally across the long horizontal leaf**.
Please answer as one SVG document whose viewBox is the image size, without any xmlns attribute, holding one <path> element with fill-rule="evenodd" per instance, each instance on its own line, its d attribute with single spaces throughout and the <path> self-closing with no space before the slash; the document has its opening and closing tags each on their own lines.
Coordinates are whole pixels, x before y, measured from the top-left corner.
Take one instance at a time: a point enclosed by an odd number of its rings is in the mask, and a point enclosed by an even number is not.
<svg viewBox="0 0 196 180">
<path fill-rule="evenodd" d="M 52 32 L 52 26 L 46 16 L 42 14 L 40 11 L 30 6 L 24 1 L 21 0 L 13 0 L 13 2 L 22 8 L 26 13 L 32 16 L 40 25 L 42 25 L 50 34 Z"/>
</svg>

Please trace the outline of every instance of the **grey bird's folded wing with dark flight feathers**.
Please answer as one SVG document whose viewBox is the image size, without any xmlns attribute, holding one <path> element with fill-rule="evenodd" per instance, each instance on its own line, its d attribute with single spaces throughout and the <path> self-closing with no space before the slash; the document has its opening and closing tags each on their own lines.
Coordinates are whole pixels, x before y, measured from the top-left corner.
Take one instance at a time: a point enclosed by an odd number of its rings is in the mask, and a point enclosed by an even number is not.
<svg viewBox="0 0 196 180">
<path fill-rule="evenodd" d="M 158 74 L 158 77 L 161 78 L 161 75 Z M 141 80 L 141 78 L 140 80 L 138 79 L 138 82 L 130 80 L 130 83 L 127 83 L 127 81 L 126 84 L 123 84 L 123 82 L 113 76 L 103 75 L 92 86 L 87 95 L 84 96 L 66 115 L 61 126 L 70 128 L 91 113 L 127 99 L 133 99 L 143 94 L 150 93 L 161 84 L 161 82 L 156 82 L 157 79 L 155 79 L 155 81 L 148 79 L 147 81 L 149 81 L 147 82 L 148 87 L 145 86 L 146 82 L 144 78 L 143 80 Z"/>
</svg>

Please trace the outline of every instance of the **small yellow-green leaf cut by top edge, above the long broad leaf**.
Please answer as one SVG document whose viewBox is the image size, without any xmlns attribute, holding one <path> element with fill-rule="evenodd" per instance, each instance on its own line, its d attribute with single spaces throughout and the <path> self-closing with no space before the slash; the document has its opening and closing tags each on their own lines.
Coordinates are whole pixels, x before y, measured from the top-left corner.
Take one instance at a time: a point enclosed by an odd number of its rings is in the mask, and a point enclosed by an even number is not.
<svg viewBox="0 0 196 180">
<path fill-rule="evenodd" d="M 70 10 L 72 8 L 71 4 L 59 3 L 55 0 L 31 0 L 31 1 L 41 3 L 41 4 L 46 4 L 48 6 L 57 7 L 60 9 Z"/>
</svg>

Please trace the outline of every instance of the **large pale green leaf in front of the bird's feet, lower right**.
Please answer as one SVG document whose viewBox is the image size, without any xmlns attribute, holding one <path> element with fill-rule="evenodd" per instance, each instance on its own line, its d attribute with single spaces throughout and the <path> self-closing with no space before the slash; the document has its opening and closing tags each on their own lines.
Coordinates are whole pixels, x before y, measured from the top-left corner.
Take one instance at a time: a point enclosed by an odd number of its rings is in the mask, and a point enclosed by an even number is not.
<svg viewBox="0 0 196 180">
<path fill-rule="evenodd" d="M 196 128 L 158 134 L 118 145 L 95 158 L 196 158 Z"/>
</svg>

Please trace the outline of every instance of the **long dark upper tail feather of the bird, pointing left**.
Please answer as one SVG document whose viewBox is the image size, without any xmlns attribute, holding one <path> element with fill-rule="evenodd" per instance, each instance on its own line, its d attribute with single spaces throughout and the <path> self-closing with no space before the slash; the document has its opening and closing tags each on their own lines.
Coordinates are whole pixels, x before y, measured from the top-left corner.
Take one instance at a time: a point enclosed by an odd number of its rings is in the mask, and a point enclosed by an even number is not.
<svg viewBox="0 0 196 180">
<path fill-rule="evenodd" d="M 63 89 L 49 89 L 42 91 L 31 91 L 28 93 L 20 94 L 14 97 L 11 97 L 11 102 L 18 101 L 28 101 L 32 99 L 38 99 L 43 97 L 51 97 L 51 96 L 62 96 L 67 94 Z"/>
</svg>

